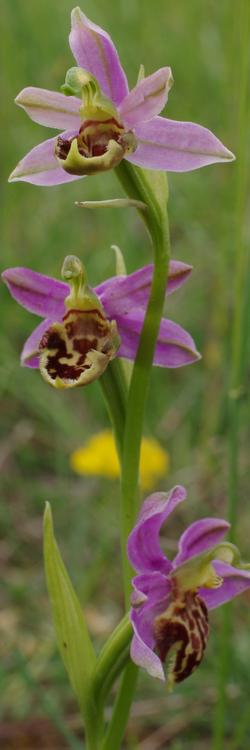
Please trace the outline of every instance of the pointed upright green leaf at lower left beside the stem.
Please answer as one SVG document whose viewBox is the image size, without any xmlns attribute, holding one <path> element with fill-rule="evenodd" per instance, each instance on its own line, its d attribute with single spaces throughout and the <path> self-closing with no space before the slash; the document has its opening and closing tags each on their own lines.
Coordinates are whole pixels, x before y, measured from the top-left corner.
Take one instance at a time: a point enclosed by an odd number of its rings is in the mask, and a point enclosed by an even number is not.
<svg viewBox="0 0 250 750">
<path fill-rule="evenodd" d="M 44 513 L 44 560 L 57 643 L 82 712 L 96 664 L 82 608 L 61 558 L 49 503 Z"/>
</svg>

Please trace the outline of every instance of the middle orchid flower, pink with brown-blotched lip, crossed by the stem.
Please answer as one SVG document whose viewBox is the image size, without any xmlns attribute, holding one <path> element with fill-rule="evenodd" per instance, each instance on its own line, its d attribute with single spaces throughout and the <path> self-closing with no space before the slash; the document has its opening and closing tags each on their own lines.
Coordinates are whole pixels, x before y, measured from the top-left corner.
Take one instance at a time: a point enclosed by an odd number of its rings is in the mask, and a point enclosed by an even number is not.
<svg viewBox="0 0 250 750">
<path fill-rule="evenodd" d="M 187 278 L 191 267 L 170 262 L 167 293 Z M 2 274 L 12 297 L 45 320 L 27 339 L 21 362 L 39 367 L 57 388 L 85 385 L 118 355 L 134 360 L 150 294 L 152 265 L 128 276 L 107 279 L 90 289 L 78 258 L 69 255 L 62 276 L 68 283 L 31 271 L 9 268 Z M 162 319 L 154 364 L 181 367 L 200 358 L 189 333 Z"/>
</svg>

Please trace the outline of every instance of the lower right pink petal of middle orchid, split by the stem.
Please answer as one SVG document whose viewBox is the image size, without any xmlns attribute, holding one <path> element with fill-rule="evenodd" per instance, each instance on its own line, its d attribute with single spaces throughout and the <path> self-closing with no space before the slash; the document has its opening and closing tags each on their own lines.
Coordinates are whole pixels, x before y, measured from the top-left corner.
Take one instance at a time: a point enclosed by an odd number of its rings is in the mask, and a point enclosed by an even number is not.
<svg viewBox="0 0 250 750">
<path fill-rule="evenodd" d="M 115 316 L 121 336 L 119 357 L 135 359 L 145 317 L 142 309 Z M 200 359 L 195 343 L 187 331 L 172 320 L 162 318 L 154 353 L 154 365 L 182 367 Z"/>
</svg>

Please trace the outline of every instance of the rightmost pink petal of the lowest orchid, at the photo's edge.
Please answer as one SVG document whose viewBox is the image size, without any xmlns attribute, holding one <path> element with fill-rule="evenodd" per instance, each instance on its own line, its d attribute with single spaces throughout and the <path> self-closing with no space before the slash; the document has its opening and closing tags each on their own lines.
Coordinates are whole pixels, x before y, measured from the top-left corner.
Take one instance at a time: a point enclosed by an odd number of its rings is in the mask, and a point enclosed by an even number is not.
<svg viewBox="0 0 250 750">
<path fill-rule="evenodd" d="M 223 583 L 217 589 L 200 589 L 208 609 L 219 607 L 250 588 L 250 570 L 240 570 L 219 560 L 213 562 L 213 567 Z"/>
</svg>

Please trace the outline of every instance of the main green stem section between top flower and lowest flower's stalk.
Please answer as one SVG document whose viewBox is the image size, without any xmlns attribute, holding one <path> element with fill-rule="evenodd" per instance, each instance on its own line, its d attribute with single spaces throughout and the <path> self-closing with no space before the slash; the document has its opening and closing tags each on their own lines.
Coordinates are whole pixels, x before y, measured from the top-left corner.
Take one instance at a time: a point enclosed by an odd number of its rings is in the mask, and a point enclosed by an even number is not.
<svg viewBox="0 0 250 750">
<path fill-rule="evenodd" d="M 134 168 L 126 162 L 122 162 L 116 171 L 129 197 L 142 200 L 147 205 L 147 210 L 140 214 L 149 230 L 154 249 L 151 293 L 128 394 L 122 461 L 121 536 L 125 602 L 128 608 L 132 570 L 127 559 L 127 539 L 138 510 L 140 445 L 154 350 L 165 301 L 170 243 L 165 175 L 159 173 L 155 176 L 153 172 Z"/>
</svg>

